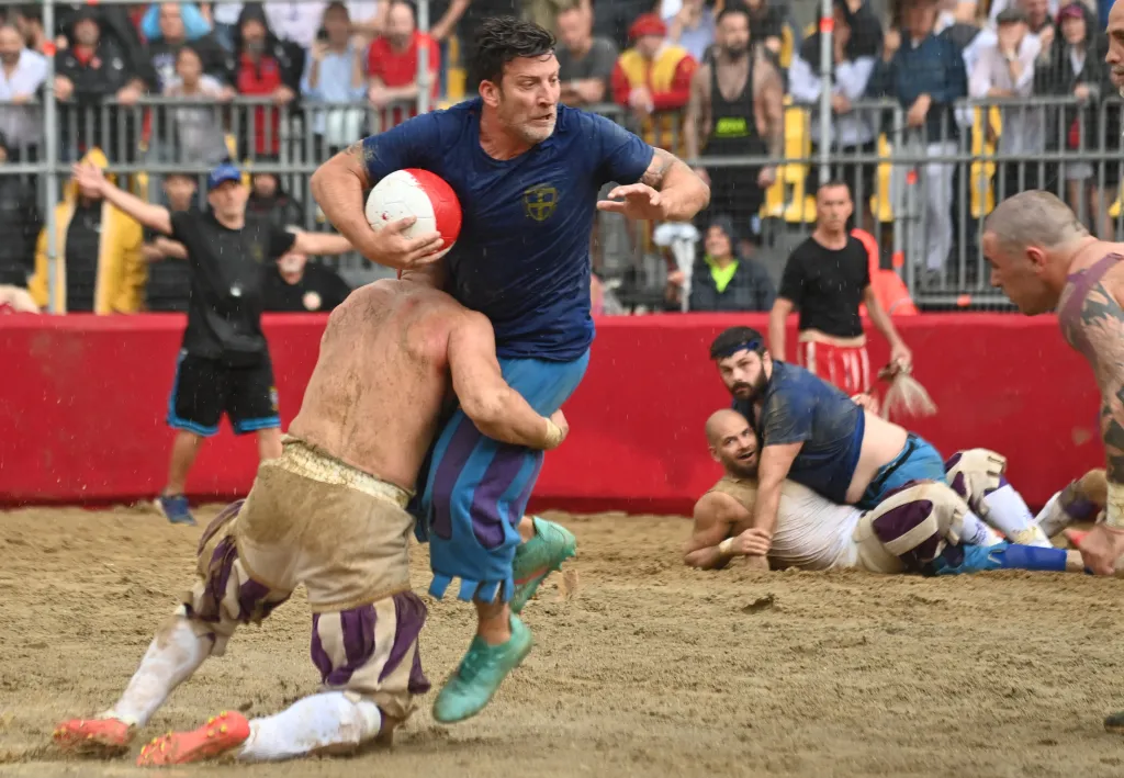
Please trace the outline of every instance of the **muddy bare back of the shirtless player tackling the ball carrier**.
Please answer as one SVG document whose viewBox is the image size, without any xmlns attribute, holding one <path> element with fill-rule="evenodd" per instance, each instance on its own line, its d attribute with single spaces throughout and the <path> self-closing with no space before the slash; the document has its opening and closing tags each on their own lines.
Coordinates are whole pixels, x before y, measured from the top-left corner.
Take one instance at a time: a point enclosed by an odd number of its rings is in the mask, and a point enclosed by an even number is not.
<svg viewBox="0 0 1124 778">
<path fill-rule="evenodd" d="M 356 289 L 328 318 L 289 434 L 415 489 L 450 388 L 448 334 L 462 315 L 452 297 L 420 283 Z"/>
</svg>

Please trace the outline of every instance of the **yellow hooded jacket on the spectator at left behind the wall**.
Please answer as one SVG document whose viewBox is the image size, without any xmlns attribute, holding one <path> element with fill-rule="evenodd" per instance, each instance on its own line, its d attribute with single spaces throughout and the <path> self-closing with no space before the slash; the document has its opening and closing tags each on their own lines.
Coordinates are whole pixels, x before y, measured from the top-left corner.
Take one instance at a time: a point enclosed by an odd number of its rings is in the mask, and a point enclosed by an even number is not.
<svg viewBox="0 0 1124 778">
<path fill-rule="evenodd" d="M 100 148 L 91 148 L 83 162 L 102 170 L 109 166 Z M 110 180 L 114 177 L 107 177 Z M 63 201 L 55 206 L 55 310 L 66 313 L 66 233 L 78 202 L 78 184 L 72 179 L 63 190 Z M 101 236 L 98 251 L 98 278 L 93 291 L 93 313 L 134 314 L 140 309 L 148 277 L 140 246 L 144 232 L 133 218 L 109 202 L 101 203 Z M 47 228 L 39 233 L 35 248 L 35 274 L 28 291 L 42 308 L 47 307 L 49 272 L 47 269 Z"/>
</svg>

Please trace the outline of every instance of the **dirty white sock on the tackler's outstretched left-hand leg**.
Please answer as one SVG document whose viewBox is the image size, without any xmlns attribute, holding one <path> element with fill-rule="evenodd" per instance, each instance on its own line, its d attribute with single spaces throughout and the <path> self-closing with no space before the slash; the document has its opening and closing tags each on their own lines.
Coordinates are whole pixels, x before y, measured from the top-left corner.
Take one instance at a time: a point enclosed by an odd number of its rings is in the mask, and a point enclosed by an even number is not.
<svg viewBox="0 0 1124 778">
<path fill-rule="evenodd" d="M 197 635 L 187 617 L 176 614 L 161 626 L 125 694 L 101 717 L 144 726 L 175 687 L 203 663 L 210 651 L 210 637 Z"/>
</svg>

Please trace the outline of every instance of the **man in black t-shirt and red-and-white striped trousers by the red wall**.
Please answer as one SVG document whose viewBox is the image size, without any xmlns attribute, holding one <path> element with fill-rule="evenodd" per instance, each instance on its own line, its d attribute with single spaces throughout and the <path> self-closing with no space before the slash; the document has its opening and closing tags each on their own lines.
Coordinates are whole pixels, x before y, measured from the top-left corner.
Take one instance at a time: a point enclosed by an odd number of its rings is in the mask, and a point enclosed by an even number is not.
<svg viewBox="0 0 1124 778">
<path fill-rule="evenodd" d="M 785 265 L 780 293 L 769 315 L 769 351 L 785 361 L 785 324 L 800 311 L 797 363 L 847 395 L 870 391 L 870 356 L 859 306 L 890 342 L 890 361 L 906 365 L 913 354 L 901 342 L 870 283 L 867 250 L 847 233 L 854 206 L 842 181 L 816 192 L 816 229 Z"/>
</svg>

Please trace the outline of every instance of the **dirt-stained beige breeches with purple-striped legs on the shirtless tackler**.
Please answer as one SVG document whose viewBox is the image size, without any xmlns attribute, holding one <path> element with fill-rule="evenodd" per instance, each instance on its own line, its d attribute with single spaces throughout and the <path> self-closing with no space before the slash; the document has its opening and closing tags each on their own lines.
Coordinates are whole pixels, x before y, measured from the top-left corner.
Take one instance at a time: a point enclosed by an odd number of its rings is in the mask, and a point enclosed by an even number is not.
<svg viewBox="0 0 1124 778">
<path fill-rule="evenodd" d="M 200 539 L 184 610 L 218 655 L 239 624 L 261 623 L 303 584 L 325 688 L 406 718 L 429 689 L 418 653 L 426 607 L 410 591 L 410 495 L 300 440 L 283 445 Z"/>
</svg>

